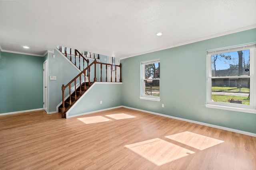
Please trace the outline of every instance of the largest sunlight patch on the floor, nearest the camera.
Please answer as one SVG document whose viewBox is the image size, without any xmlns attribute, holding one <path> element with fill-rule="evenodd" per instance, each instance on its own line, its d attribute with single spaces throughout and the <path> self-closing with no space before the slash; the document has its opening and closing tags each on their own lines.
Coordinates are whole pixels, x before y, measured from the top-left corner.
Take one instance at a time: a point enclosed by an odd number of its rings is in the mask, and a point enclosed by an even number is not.
<svg viewBox="0 0 256 170">
<path fill-rule="evenodd" d="M 191 150 L 159 138 L 125 145 L 125 147 L 156 164 L 157 166 L 161 166 L 194 153 Z"/>
</svg>

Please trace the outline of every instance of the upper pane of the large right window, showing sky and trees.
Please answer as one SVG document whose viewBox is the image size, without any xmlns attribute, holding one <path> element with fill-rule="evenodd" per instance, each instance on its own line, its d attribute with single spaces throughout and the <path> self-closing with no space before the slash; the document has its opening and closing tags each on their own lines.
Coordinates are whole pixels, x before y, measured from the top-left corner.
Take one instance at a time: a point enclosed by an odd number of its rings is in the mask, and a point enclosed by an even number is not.
<svg viewBox="0 0 256 170">
<path fill-rule="evenodd" d="M 250 50 L 215 54 L 212 59 L 212 76 L 250 75 Z"/>
</svg>

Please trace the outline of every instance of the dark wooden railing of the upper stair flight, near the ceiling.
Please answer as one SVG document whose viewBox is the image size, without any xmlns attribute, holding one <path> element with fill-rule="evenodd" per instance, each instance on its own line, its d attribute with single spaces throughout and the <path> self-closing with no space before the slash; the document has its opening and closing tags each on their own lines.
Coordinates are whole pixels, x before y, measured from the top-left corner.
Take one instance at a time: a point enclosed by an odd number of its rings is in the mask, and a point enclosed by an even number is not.
<svg viewBox="0 0 256 170">
<path fill-rule="evenodd" d="M 62 48 L 64 48 L 64 53 L 62 52 Z M 69 53 L 67 51 L 67 47 L 62 47 L 62 46 L 58 46 L 57 48 L 62 54 L 64 54 L 67 59 L 69 59 L 77 68 L 79 68 L 79 70 L 84 70 L 84 63 L 86 62 L 87 63 L 87 66 L 89 65 L 89 59 L 86 59 L 81 53 L 80 51 L 78 51 L 77 49 L 73 49 L 74 50 L 74 53 L 72 54 L 72 49 L 70 48 L 69 50 Z M 74 60 L 75 61 L 72 61 L 72 56 L 74 56 Z M 78 66 L 76 64 L 76 56 L 78 56 Z M 70 57 L 70 58 L 69 58 Z M 91 53 L 90 53 L 90 57 L 88 58 L 92 58 L 92 59 L 95 59 L 95 54 L 93 53 L 93 57 L 91 56 Z M 99 58 L 99 55 L 97 57 L 97 59 L 100 59 Z M 81 67 L 81 64 L 82 64 L 82 67 Z"/>
</svg>

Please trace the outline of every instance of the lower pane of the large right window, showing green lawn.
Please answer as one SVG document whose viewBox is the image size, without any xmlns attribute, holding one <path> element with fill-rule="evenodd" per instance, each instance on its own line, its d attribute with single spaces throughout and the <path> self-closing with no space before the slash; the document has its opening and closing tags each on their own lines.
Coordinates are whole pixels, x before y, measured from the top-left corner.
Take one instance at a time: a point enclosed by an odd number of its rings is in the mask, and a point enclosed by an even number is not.
<svg viewBox="0 0 256 170">
<path fill-rule="evenodd" d="M 212 78 L 212 100 L 250 105 L 250 78 Z"/>
</svg>

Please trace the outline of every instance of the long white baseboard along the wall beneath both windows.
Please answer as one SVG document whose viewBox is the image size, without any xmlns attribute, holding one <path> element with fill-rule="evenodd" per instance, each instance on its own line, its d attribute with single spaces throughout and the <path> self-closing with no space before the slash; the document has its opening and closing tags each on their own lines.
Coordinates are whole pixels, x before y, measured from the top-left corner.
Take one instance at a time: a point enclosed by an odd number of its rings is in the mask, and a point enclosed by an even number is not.
<svg viewBox="0 0 256 170">
<path fill-rule="evenodd" d="M 187 121 L 187 122 L 190 122 L 190 123 L 196 123 L 196 124 L 199 124 L 199 125 L 204 125 L 204 126 L 209 126 L 209 127 L 215 127 L 215 128 L 222 129 L 222 130 L 226 130 L 226 131 L 231 131 L 231 132 L 236 132 L 236 133 L 241 133 L 241 134 L 244 134 L 244 135 L 249 135 L 249 136 L 256 137 L 256 133 L 250 133 L 250 132 L 246 132 L 246 131 L 240 131 L 240 130 L 237 130 L 237 129 L 231 129 L 231 128 L 228 128 L 228 127 L 223 127 L 223 126 L 218 126 L 218 125 L 212 125 L 212 124 L 203 123 L 203 122 L 200 122 L 200 121 L 193 121 L 193 120 L 189 120 L 189 119 L 183 119 L 183 118 L 180 118 L 180 117 L 174 117 L 174 116 L 170 116 L 170 115 L 164 115 L 164 114 L 156 113 L 156 112 L 152 112 L 152 111 L 147 111 L 147 110 L 142 110 L 142 109 L 136 109 L 136 108 L 133 108 L 133 107 L 127 107 L 127 106 L 120 106 L 120 107 L 124 107 L 124 108 L 128 108 L 128 109 L 133 109 L 133 110 L 138 110 L 138 111 L 143 111 L 143 112 L 150 113 L 150 114 L 154 114 L 154 115 L 164 116 L 164 117 L 168 117 L 168 118 L 172 118 L 172 119 Z"/>
</svg>

